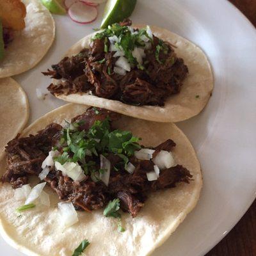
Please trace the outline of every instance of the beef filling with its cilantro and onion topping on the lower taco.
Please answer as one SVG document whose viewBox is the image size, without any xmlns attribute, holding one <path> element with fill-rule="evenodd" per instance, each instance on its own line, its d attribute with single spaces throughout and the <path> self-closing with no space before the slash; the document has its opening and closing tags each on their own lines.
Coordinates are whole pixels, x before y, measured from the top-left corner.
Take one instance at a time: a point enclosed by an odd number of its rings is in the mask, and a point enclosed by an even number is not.
<svg viewBox="0 0 256 256">
<path fill-rule="evenodd" d="M 149 193 L 191 180 L 189 170 L 179 164 L 170 168 L 159 165 L 154 179 L 157 155 L 172 151 L 174 141 L 144 148 L 131 132 L 114 129 L 112 122 L 118 118 L 111 111 L 90 108 L 64 128 L 52 123 L 36 135 L 17 136 L 6 146 L 7 170 L 2 180 L 10 182 L 13 188 L 27 184 L 29 175 L 42 172 L 49 152 L 55 152 L 53 166 L 44 167 L 49 168 L 44 181 L 60 200 L 90 212 L 118 198 L 120 208 L 132 217 L 137 216 Z M 152 155 L 148 157 L 147 152 Z M 79 178 L 72 179 L 68 172 L 63 172 L 70 164 L 82 170 Z"/>
</svg>

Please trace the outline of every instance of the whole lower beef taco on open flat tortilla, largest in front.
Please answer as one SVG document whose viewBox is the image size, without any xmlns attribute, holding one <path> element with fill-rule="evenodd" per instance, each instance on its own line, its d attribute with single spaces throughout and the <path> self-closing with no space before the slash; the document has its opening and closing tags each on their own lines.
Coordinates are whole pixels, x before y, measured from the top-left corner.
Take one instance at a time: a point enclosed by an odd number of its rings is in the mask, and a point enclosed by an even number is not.
<svg viewBox="0 0 256 256">
<path fill-rule="evenodd" d="M 28 255 L 69 256 L 88 241 L 86 255 L 148 255 L 202 187 L 195 151 L 175 124 L 77 104 L 29 125 L 0 164 L 1 234 Z"/>
</svg>

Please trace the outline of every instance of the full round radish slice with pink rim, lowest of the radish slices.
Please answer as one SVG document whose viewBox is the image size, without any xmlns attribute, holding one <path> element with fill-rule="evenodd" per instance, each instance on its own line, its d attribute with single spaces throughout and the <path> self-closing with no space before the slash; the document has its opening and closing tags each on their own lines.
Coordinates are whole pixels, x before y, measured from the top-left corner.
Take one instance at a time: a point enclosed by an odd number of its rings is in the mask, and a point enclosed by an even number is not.
<svg viewBox="0 0 256 256">
<path fill-rule="evenodd" d="M 95 6 L 78 1 L 70 6 L 68 15 L 74 22 L 86 24 L 97 18 L 98 11 Z"/>
</svg>

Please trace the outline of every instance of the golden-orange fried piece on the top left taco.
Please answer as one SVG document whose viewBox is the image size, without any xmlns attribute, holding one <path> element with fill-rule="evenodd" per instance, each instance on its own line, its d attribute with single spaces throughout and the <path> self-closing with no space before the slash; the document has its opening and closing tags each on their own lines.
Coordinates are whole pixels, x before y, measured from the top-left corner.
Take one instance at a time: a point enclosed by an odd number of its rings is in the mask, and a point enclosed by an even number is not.
<svg viewBox="0 0 256 256">
<path fill-rule="evenodd" d="M 0 19 L 3 28 L 25 28 L 26 6 L 20 0 L 0 0 Z"/>
</svg>

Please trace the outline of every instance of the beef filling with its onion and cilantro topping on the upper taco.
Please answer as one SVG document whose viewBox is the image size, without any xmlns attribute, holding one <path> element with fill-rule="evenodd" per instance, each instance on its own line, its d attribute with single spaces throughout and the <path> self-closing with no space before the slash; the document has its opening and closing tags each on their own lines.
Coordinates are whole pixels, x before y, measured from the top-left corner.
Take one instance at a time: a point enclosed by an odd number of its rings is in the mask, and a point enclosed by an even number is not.
<svg viewBox="0 0 256 256">
<path fill-rule="evenodd" d="M 92 93 L 127 104 L 159 105 L 180 92 L 188 67 L 173 46 L 152 35 L 150 28 L 133 29 L 131 21 L 97 33 L 89 49 L 65 57 L 45 76 L 52 94 Z"/>
</svg>

